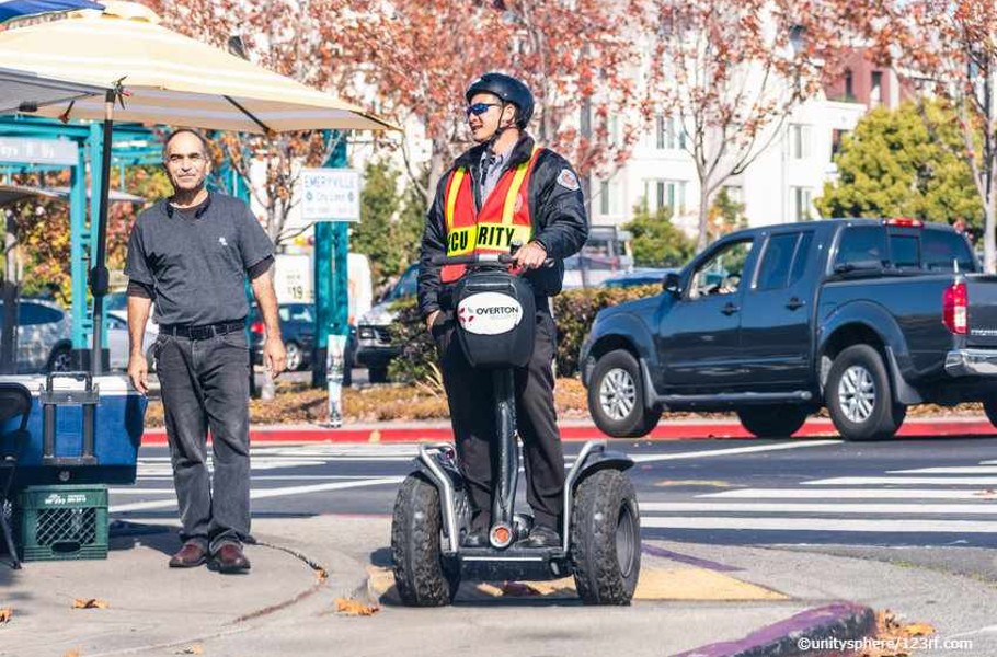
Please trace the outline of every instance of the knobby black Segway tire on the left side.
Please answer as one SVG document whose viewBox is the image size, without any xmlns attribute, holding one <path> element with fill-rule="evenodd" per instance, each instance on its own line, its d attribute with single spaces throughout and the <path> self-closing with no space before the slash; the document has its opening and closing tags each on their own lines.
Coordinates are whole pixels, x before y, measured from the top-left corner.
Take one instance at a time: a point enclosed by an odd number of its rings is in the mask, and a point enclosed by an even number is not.
<svg viewBox="0 0 997 657">
<path fill-rule="evenodd" d="M 444 567 L 442 526 L 436 486 L 422 476 L 408 476 L 394 500 L 391 525 L 394 585 L 404 604 L 444 607 L 454 600 L 460 578 Z"/>
</svg>

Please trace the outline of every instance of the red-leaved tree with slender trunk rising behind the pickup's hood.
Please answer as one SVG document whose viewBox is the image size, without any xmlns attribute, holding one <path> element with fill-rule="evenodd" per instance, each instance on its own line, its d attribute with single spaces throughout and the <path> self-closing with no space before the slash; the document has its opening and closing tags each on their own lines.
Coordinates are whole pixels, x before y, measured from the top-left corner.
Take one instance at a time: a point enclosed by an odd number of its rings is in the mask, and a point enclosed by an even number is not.
<svg viewBox="0 0 997 657">
<path fill-rule="evenodd" d="M 653 112 L 677 120 L 699 180 L 698 247 L 709 208 L 836 73 L 847 43 L 836 0 L 646 0 Z"/>
</svg>

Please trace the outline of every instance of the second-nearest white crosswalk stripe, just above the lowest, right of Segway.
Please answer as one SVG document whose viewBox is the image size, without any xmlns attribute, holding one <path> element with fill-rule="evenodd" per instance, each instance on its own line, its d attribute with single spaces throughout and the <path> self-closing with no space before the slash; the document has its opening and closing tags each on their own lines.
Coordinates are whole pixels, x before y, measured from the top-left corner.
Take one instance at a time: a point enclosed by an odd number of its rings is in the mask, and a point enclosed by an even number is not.
<svg viewBox="0 0 997 657">
<path fill-rule="evenodd" d="M 994 515 L 997 516 L 997 503 L 994 504 L 767 504 L 740 502 L 645 502 L 640 505 L 641 511 L 652 512 L 696 512 L 709 514 L 903 514 L 903 515 Z"/>
</svg>

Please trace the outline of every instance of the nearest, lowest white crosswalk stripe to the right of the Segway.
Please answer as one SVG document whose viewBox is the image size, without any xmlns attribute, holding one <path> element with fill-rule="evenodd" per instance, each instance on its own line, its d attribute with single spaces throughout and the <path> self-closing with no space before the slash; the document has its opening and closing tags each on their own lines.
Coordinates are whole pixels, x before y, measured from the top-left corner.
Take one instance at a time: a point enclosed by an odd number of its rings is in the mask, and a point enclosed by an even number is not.
<svg viewBox="0 0 997 657">
<path fill-rule="evenodd" d="M 836 518 L 732 518 L 641 516 L 645 529 L 750 529 L 863 533 L 997 533 L 997 522 L 975 520 L 855 520 Z"/>
</svg>

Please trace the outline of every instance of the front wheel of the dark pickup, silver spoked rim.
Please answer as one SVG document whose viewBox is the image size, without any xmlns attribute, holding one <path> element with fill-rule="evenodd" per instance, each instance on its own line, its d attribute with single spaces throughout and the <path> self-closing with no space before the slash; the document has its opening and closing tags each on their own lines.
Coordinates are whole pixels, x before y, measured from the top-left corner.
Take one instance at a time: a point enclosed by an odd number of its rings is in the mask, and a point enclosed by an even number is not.
<svg viewBox="0 0 997 657">
<path fill-rule="evenodd" d="M 599 430 L 615 438 L 644 436 L 657 426 L 661 411 L 644 407 L 641 368 L 630 351 L 598 359 L 588 382 L 588 412 Z"/>
</svg>

